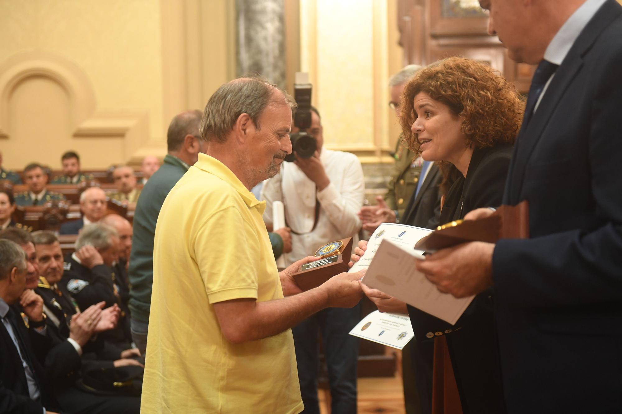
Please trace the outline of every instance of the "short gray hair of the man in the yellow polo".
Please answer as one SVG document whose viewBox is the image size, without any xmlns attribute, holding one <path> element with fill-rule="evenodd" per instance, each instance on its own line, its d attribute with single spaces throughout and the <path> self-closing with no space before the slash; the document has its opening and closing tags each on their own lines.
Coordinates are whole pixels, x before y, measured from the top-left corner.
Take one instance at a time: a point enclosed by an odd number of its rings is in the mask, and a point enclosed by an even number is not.
<svg viewBox="0 0 622 414">
<path fill-rule="evenodd" d="M 284 98 L 272 96 L 280 91 Z M 203 111 L 201 136 L 208 142 L 225 142 L 227 134 L 233 129 L 241 114 L 248 114 L 257 129 L 259 117 L 269 104 L 296 107 L 294 98 L 278 86 L 258 76 L 243 76 L 220 86 L 211 96 Z"/>
</svg>

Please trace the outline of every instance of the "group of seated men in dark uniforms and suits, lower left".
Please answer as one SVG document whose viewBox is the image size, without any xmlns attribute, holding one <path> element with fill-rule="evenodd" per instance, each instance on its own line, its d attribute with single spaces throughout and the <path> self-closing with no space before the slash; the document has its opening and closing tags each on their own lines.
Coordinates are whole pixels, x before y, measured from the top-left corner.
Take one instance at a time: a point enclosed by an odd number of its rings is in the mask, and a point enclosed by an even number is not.
<svg viewBox="0 0 622 414">
<path fill-rule="evenodd" d="M 116 215 L 85 226 L 64 259 L 51 231 L 0 233 L 0 412 L 139 412 L 131 239 Z"/>
</svg>

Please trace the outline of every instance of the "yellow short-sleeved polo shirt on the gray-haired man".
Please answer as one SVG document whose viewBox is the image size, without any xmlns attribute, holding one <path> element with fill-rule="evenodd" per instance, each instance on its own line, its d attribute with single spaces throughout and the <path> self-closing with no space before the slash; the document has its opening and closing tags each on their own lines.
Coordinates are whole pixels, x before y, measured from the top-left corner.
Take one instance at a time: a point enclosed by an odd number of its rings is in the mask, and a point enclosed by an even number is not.
<svg viewBox="0 0 622 414">
<path fill-rule="evenodd" d="M 283 297 L 261 215 L 266 203 L 208 155 L 157 220 L 142 413 L 299 413 L 294 339 L 231 344 L 213 303 Z"/>
</svg>

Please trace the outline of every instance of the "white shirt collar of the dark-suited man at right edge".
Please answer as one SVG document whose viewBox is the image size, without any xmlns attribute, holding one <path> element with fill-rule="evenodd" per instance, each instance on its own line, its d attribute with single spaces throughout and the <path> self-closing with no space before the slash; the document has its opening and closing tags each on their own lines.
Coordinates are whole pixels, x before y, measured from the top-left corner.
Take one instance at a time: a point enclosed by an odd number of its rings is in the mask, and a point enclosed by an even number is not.
<svg viewBox="0 0 622 414">
<path fill-rule="evenodd" d="M 549 46 L 546 48 L 544 52 L 544 60 L 548 60 L 550 63 L 555 63 L 555 65 L 561 65 L 564 62 L 564 59 L 570 52 L 570 48 L 575 44 L 575 40 L 581 34 L 585 26 L 592 20 L 592 17 L 596 14 L 598 9 L 600 9 L 603 4 L 605 4 L 607 0 L 587 0 L 585 3 L 581 5 L 570 18 L 562 25 L 559 31 L 553 37 L 553 40 L 550 41 Z M 540 94 L 538 101 L 536 102 L 536 106 L 534 106 L 534 113 L 536 113 L 540 102 L 542 101 L 542 96 L 546 93 L 546 90 L 549 88 L 550 82 L 553 80 L 555 74 L 551 75 L 547 83 L 544 85 L 544 89 Z"/>
</svg>

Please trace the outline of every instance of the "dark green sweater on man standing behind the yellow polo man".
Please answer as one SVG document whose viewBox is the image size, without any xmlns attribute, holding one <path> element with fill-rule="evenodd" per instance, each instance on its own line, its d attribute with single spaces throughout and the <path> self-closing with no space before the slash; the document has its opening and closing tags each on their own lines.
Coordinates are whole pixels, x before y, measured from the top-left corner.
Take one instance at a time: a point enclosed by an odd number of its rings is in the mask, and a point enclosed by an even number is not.
<svg viewBox="0 0 622 414">
<path fill-rule="evenodd" d="M 157 216 L 169 191 L 190 168 L 185 162 L 167 154 L 164 163 L 149 178 L 134 212 L 134 236 L 129 258 L 129 310 L 132 318 L 149 321 L 151 286 L 154 273 L 154 236 Z"/>
</svg>

